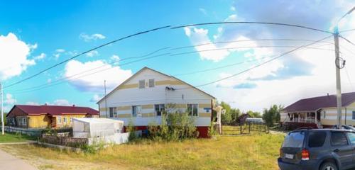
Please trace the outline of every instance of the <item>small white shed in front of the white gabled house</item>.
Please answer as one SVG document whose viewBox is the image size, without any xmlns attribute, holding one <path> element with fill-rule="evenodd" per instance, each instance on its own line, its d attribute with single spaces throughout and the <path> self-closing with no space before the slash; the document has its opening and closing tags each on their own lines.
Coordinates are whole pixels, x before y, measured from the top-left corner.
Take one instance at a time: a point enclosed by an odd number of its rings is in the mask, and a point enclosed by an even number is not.
<svg viewBox="0 0 355 170">
<path fill-rule="evenodd" d="M 124 121 L 108 118 L 72 118 L 73 137 L 107 137 L 121 133 Z"/>
</svg>

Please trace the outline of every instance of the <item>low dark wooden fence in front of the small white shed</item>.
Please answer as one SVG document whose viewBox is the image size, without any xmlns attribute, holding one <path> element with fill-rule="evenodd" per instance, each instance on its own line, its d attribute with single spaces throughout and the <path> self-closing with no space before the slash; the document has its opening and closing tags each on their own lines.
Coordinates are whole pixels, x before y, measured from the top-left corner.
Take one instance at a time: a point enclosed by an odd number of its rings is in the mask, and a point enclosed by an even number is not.
<svg viewBox="0 0 355 170">
<path fill-rule="evenodd" d="M 80 147 L 82 145 L 89 144 L 89 140 L 87 138 L 63 137 L 44 134 L 42 135 L 41 142 L 67 147 Z"/>
</svg>

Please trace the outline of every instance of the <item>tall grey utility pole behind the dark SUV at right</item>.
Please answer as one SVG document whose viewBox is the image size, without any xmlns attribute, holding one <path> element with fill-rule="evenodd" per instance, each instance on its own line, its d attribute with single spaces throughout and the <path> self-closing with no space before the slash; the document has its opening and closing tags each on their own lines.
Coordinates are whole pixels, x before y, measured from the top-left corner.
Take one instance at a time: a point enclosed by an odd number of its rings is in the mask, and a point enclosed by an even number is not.
<svg viewBox="0 0 355 170">
<path fill-rule="evenodd" d="M 334 28 L 334 45 L 335 45 L 335 75 L 337 78 L 337 128 L 342 128 L 342 86 L 340 84 L 340 69 L 342 63 L 339 58 L 339 31 L 338 27 Z"/>
</svg>

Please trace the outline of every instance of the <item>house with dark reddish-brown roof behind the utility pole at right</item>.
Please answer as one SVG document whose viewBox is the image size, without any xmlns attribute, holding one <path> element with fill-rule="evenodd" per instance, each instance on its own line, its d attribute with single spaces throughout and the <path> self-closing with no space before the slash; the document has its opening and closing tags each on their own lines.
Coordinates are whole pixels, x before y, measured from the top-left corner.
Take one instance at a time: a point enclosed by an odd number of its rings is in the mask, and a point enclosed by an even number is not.
<svg viewBox="0 0 355 170">
<path fill-rule="evenodd" d="M 294 127 L 330 128 L 337 125 L 337 96 L 305 98 L 283 109 L 280 122 Z M 355 92 L 342 94 L 342 125 L 355 125 Z"/>
</svg>

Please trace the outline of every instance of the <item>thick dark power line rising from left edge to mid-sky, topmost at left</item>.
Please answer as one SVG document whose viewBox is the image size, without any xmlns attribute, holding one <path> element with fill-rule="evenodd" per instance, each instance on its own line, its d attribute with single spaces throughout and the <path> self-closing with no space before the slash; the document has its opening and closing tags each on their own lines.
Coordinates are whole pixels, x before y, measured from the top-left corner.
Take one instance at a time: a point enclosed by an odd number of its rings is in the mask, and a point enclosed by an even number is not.
<svg viewBox="0 0 355 170">
<path fill-rule="evenodd" d="M 84 54 L 86 54 L 86 53 L 88 53 L 88 52 L 91 52 L 91 51 L 93 51 L 93 50 L 97 50 L 97 49 L 99 49 L 99 48 L 101 48 L 101 47 L 104 47 L 104 46 L 106 46 L 106 45 L 110 45 L 110 44 L 112 44 L 112 43 L 114 43 L 114 42 L 117 42 L 117 41 L 120 41 L 120 40 L 124 40 L 124 39 L 127 39 L 127 38 L 131 38 L 131 37 L 136 36 L 136 35 L 141 35 L 141 34 L 149 33 L 149 32 L 155 31 L 155 30 L 161 30 L 161 29 L 163 29 L 163 28 L 168 28 L 168 27 L 170 27 L 170 26 L 163 26 L 163 27 L 160 27 L 160 28 L 154 28 L 154 29 L 151 29 L 151 30 L 146 30 L 146 31 L 142 31 L 142 32 L 139 32 L 139 33 L 134 33 L 134 34 L 132 34 L 132 35 L 127 35 L 127 36 L 125 36 L 125 37 L 123 37 L 123 38 L 119 38 L 119 39 L 113 40 L 113 41 L 111 41 L 111 42 L 107 42 L 107 43 L 105 43 L 105 44 L 103 44 L 103 45 L 99 45 L 99 46 L 94 47 L 94 48 L 92 48 L 92 49 L 90 49 L 90 50 L 84 51 L 84 52 L 80 53 L 79 55 L 75 55 L 75 56 L 73 56 L 73 57 L 70 57 L 70 58 L 67 59 L 67 60 L 64 60 L 64 61 L 62 61 L 62 62 L 59 62 L 59 63 L 57 63 L 57 64 L 54 64 L 53 66 L 48 67 L 48 68 L 46 68 L 46 69 L 43 69 L 42 71 L 40 71 L 40 72 L 38 72 L 38 73 L 36 73 L 36 74 L 33 74 L 33 75 L 30 76 L 30 77 L 27 77 L 27 78 L 22 79 L 22 80 L 20 80 L 20 81 L 16 81 L 15 83 L 9 84 L 8 86 L 4 86 L 4 88 L 8 88 L 8 87 L 10 87 L 10 86 L 14 86 L 14 85 L 16 85 L 16 84 L 20 84 L 21 82 L 26 81 L 26 80 L 28 80 L 28 79 L 32 79 L 33 77 L 36 77 L 36 76 L 38 76 L 39 74 L 42 74 L 43 72 L 48 71 L 49 69 L 53 69 L 54 67 L 57 67 L 57 66 L 60 65 L 60 64 L 63 64 L 63 63 L 68 62 L 68 61 L 70 61 L 70 60 L 73 60 L 74 58 L 79 57 L 80 55 L 84 55 Z"/>
</svg>

